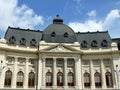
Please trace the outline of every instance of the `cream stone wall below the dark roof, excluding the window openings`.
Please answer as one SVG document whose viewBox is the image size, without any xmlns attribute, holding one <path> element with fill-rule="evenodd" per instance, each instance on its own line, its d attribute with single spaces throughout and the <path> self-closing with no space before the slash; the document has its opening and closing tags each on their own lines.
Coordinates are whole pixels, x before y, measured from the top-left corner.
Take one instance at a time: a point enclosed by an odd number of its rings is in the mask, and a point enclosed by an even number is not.
<svg viewBox="0 0 120 90">
<path fill-rule="evenodd" d="M 8 62 L 12 58 L 13 62 Z M 52 58 L 53 66 L 46 67 L 46 59 Z M 57 67 L 57 59 L 62 58 L 63 67 Z M 68 59 L 74 60 L 74 67 L 67 67 Z M 23 63 L 19 63 L 23 59 Z M 34 64 L 30 60 L 34 60 Z M 117 44 L 112 43 L 111 47 L 97 49 L 82 49 L 78 42 L 68 43 L 46 43 L 41 41 L 38 47 L 10 45 L 4 39 L 0 39 L 0 61 L 2 63 L 2 73 L 0 77 L 0 89 L 86 89 L 84 87 L 84 73 L 88 72 L 91 76 L 91 85 L 88 89 L 96 89 L 94 73 L 101 73 L 102 87 L 100 89 L 118 89 L 120 88 L 120 51 Z M 109 62 L 109 64 L 106 64 Z M 3 68 L 4 67 L 4 68 Z M 5 72 L 12 72 L 11 87 L 5 87 Z M 23 87 L 16 86 L 17 73 L 24 73 Z M 28 74 L 35 73 L 35 87 L 28 87 Z M 53 86 L 46 87 L 46 73 L 50 71 L 53 74 Z M 64 75 L 63 87 L 57 87 L 56 74 L 61 71 Z M 74 73 L 74 86 L 67 84 L 67 73 Z M 105 73 L 112 73 L 113 87 L 107 88 Z M 117 76 L 118 75 L 118 76 Z"/>
</svg>

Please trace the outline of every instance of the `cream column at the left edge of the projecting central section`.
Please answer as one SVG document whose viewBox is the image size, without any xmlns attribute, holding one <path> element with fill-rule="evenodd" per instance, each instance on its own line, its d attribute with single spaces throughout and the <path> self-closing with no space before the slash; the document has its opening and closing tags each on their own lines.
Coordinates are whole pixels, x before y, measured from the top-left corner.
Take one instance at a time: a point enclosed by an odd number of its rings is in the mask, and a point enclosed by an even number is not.
<svg viewBox="0 0 120 90">
<path fill-rule="evenodd" d="M 39 55 L 40 56 L 40 55 Z M 41 57 L 39 57 L 39 60 L 38 60 L 38 87 L 37 87 L 37 90 L 41 89 L 41 86 L 42 86 L 42 59 Z M 36 78 L 37 80 L 37 78 Z"/>
</svg>

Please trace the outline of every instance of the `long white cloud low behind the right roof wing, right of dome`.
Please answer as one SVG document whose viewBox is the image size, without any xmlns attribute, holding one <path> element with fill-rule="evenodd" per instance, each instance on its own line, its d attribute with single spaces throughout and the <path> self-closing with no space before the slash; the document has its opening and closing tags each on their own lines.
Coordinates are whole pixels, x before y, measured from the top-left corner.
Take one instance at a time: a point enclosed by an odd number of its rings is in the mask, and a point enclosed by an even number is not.
<svg viewBox="0 0 120 90">
<path fill-rule="evenodd" d="M 120 37 L 120 10 L 111 10 L 107 14 L 104 20 L 89 20 L 85 22 L 69 22 L 68 25 L 75 32 L 87 32 L 87 31 L 106 31 L 110 32 L 112 37 Z"/>
</svg>

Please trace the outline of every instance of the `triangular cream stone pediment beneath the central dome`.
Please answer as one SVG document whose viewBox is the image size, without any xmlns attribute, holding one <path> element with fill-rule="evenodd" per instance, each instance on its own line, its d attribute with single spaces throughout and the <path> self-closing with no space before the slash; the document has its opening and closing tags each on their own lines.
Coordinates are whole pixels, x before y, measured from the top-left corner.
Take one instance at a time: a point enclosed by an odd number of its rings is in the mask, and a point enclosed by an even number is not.
<svg viewBox="0 0 120 90">
<path fill-rule="evenodd" d="M 45 51 L 45 52 L 74 52 L 74 51 L 79 51 L 79 50 L 77 50 L 77 49 L 75 49 L 74 47 L 71 47 L 71 46 L 58 44 L 58 45 L 55 45 L 55 46 L 49 46 L 45 49 L 42 49 L 41 51 Z"/>
</svg>

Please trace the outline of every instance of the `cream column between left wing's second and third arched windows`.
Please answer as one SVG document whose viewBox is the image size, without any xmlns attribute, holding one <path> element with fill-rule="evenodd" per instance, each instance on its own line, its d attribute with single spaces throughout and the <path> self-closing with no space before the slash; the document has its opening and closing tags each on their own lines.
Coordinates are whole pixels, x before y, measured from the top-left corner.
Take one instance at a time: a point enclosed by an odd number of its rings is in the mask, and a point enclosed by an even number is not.
<svg viewBox="0 0 120 90">
<path fill-rule="evenodd" d="M 28 76 L 29 76 L 29 72 L 28 72 L 28 68 L 29 68 L 29 59 L 26 58 L 26 65 L 25 65 L 25 83 L 24 83 L 24 88 L 27 89 L 28 88 Z"/>
</svg>

